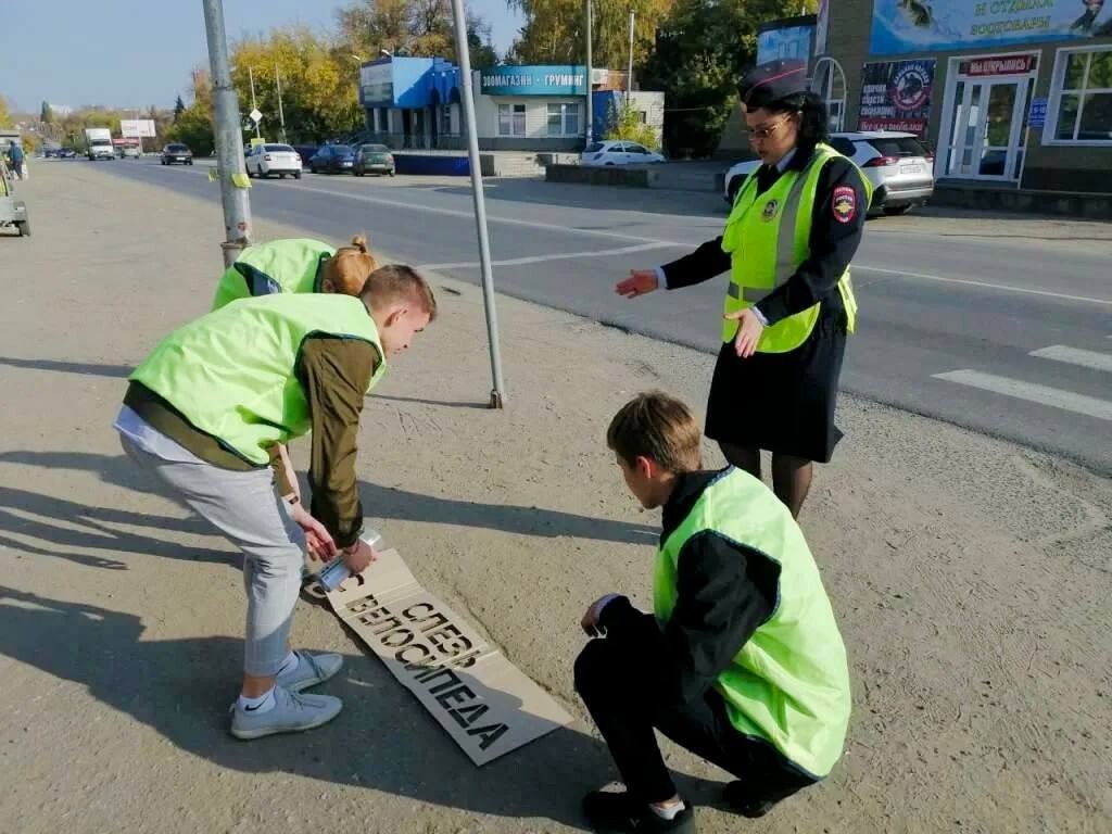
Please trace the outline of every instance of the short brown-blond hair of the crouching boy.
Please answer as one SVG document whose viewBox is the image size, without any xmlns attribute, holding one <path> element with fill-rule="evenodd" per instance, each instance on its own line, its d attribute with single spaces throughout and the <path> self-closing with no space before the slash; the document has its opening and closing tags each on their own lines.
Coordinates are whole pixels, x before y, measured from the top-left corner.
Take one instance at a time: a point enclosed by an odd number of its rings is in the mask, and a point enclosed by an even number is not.
<svg viewBox="0 0 1112 834">
<path fill-rule="evenodd" d="M 664 391 L 638 394 L 622 406 L 606 429 L 606 445 L 627 466 L 647 457 L 675 474 L 702 467 L 702 441 L 692 410 Z"/>
</svg>

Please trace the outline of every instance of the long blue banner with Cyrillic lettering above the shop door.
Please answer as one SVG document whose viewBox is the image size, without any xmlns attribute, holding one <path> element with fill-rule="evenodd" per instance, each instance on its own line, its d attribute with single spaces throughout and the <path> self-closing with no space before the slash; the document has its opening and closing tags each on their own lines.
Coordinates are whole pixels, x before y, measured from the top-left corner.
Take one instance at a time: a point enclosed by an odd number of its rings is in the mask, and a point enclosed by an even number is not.
<svg viewBox="0 0 1112 834">
<path fill-rule="evenodd" d="M 950 51 L 1112 36 L 1104 0 L 873 0 L 870 52 Z"/>
</svg>

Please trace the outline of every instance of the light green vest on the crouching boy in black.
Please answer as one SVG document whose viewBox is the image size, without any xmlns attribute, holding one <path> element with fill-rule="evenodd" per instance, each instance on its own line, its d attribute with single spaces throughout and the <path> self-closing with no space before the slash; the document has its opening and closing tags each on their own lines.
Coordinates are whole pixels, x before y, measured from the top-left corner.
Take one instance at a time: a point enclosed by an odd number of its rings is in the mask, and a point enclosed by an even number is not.
<svg viewBox="0 0 1112 834">
<path fill-rule="evenodd" d="M 725 469 L 657 554 L 653 607 L 662 628 L 676 606 L 684 545 L 701 534 L 745 545 L 780 565 L 776 609 L 714 684 L 731 723 L 813 776 L 827 775 L 850 723 L 850 671 L 803 532 L 764 484 Z"/>
</svg>

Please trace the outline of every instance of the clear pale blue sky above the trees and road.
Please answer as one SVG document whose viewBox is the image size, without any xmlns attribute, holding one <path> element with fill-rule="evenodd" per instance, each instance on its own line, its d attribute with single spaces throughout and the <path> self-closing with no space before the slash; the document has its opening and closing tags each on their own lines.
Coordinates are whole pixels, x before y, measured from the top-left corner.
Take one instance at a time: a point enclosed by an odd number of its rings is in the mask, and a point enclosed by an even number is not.
<svg viewBox="0 0 1112 834">
<path fill-rule="evenodd" d="M 188 91 L 190 70 L 208 64 L 201 0 L 4 0 L 0 13 L 0 96 L 14 111 L 42 101 L 80 107 L 159 108 Z M 224 0 L 228 40 L 274 27 L 334 28 L 334 0 Z M 520 18 L 505 0 L 465 0 L 493 27 L 499 52 Z"/>
</svg>

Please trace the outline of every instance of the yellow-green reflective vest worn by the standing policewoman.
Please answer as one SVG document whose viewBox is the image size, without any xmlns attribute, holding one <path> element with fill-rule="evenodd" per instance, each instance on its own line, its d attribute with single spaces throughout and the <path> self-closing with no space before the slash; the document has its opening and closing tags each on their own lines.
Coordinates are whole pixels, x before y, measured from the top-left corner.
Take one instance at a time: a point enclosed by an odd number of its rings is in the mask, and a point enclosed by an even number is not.
<svg viewBox="0 0 1112 834">
<path fill-rule="evenodd" d="M 757 193 L 756 171 L 742 185 L 722 234 L 722 249 L 732 257 L 724 308 L 726 314 L 757 304 L 786 284 L 806 260 L 811 251 L 811 221 L 818 175 L 828 161 L 841 156 L 833 148 L 818 145 L 804 170 L 784 171 L 764 193 Z M 865 211 L 873 187 L 860 170 L 857 173 L 865 189 L 866 205 L 857 206 L 856 210 Z M 838 291 L 845 306 L 846 329 L 853 332 L 857 320 L 857 300 L 853 295 L 848 268 L 838 280 Z M 820 306 L 813 305 L 766 327 L 761 334 L 757 350 L 766 354 L 795 350 L 814 329 Z M 724 319 L 722 340 L 733 341 L 737 327 L 737 321 Z"/>
</svg>

